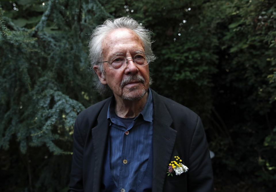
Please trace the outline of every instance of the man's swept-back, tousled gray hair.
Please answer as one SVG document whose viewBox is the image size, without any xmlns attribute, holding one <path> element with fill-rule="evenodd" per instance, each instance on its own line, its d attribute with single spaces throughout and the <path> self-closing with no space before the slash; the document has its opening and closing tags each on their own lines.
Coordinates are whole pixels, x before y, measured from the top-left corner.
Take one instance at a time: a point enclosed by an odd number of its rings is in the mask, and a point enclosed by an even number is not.
<svg viewBox="0 0 276 192">
<path fill-rule="evenodd" d="M 94 81 L 96 88 L 100 94 L 108 94 L 111 93 L 110 88 L 108 85 L 101 84 L 97 73 L 93 70 L 94 65 L 99 65 L 99 70 L 101 73 L 104 73 L 103 63 L 99 63 L 102 60 L 102 42 L 106 35 L 113 30 L 120 29 L 120 28 L 127 28 L 133 30 L 143 41 L 145 46 L 145 52 L 149 53 L 150 62 L 156 59 L 155 55 L 152 52 L 152 41 L 151 41 L 151 34 L 152 32 L 146 30 L 141 24 L 135 21 L 133 18 L 130 17 L 122 17 L 117 19 L 107 19 L 102 25 L 98 25 L 95 30 L 93 30 L 91 34 L 91 40 L 89 42 L 89 59 L 91 63 L 91 70 L 94 72 Z M 151 77 L 150 77 L 150 84 L 151 84 Z"/>
</svg>

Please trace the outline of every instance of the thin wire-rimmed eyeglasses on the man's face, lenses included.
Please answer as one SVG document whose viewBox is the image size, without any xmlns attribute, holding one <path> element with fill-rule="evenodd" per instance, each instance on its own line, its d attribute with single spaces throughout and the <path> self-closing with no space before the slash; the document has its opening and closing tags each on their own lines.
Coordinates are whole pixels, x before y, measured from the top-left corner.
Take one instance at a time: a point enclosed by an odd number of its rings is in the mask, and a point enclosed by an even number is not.
<svg viewBox="0 0 276 192">
<path fill-rule="evenodd" d="M 150 55 L 151 54 L 142 52 L 142 53 L 137 53 L 133 58 L 128 58 L 128 59 L 132 59 L 133 63 L 135 63 L 137 66 L 145 66 L 148 63 L 150 63 Z M 122 70 L 127 66 L 128 59 L 123 56 L 116 56 L 116 57 L 112 57 L 110 61 L 101 61 L 99 63 L 109 62 L 109 66 L 111 69 Z"/>
</svg>

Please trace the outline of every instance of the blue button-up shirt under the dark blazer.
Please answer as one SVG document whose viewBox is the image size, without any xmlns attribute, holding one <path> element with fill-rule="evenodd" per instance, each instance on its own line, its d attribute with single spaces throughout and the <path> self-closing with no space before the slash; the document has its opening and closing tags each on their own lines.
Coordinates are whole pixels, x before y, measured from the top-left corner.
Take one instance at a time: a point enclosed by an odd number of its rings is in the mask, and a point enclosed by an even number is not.
<svg viewBox="0 0 276 192">
<path fill-rule="evenodd" d="M 124 123 L 124 120 L 116 116 L 114 100 L 109 104 L 107 118 L 111 122 L 110 172 L 118 191 L 121 189 L 125 192 L 136 191 L 145 174 L 153 128 L 153 102 L 150 89 L 148 93 L 143 110 L 130 124 Z"/>
</svg>

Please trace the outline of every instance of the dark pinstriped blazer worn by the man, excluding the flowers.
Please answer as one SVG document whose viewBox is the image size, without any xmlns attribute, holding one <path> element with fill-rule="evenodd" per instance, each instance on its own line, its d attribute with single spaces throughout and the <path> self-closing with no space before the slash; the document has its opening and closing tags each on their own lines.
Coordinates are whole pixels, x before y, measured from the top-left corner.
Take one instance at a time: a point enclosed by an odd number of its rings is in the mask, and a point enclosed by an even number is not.
<svg viewBox="0 0 276 192">
<path fill-rule="evenodd" d="M 152 97 L 152 191 L 213 191 L 212 164 L 200 117 L 153 90 Z M 76 119 L 69 191 L 99 192 L 108 141 L 110 100 L 111 97 L 90 106 Z M 171 177 L 166 172 L 174 156 L 179 156 L 189 170 Z"/>
</svg>

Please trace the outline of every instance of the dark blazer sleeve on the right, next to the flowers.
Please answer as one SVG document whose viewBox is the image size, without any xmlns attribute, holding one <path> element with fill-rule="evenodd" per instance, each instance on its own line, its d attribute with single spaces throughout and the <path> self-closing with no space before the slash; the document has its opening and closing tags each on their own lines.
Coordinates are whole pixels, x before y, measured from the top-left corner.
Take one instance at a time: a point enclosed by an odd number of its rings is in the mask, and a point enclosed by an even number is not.
<svg viewBox="0 0 276 192">
<path fill-rule="evenodd" d="M 191 140 L 188 168 L 188 191 L 214 191 L 210 152 L 200 117 Z"/>
</svg>

